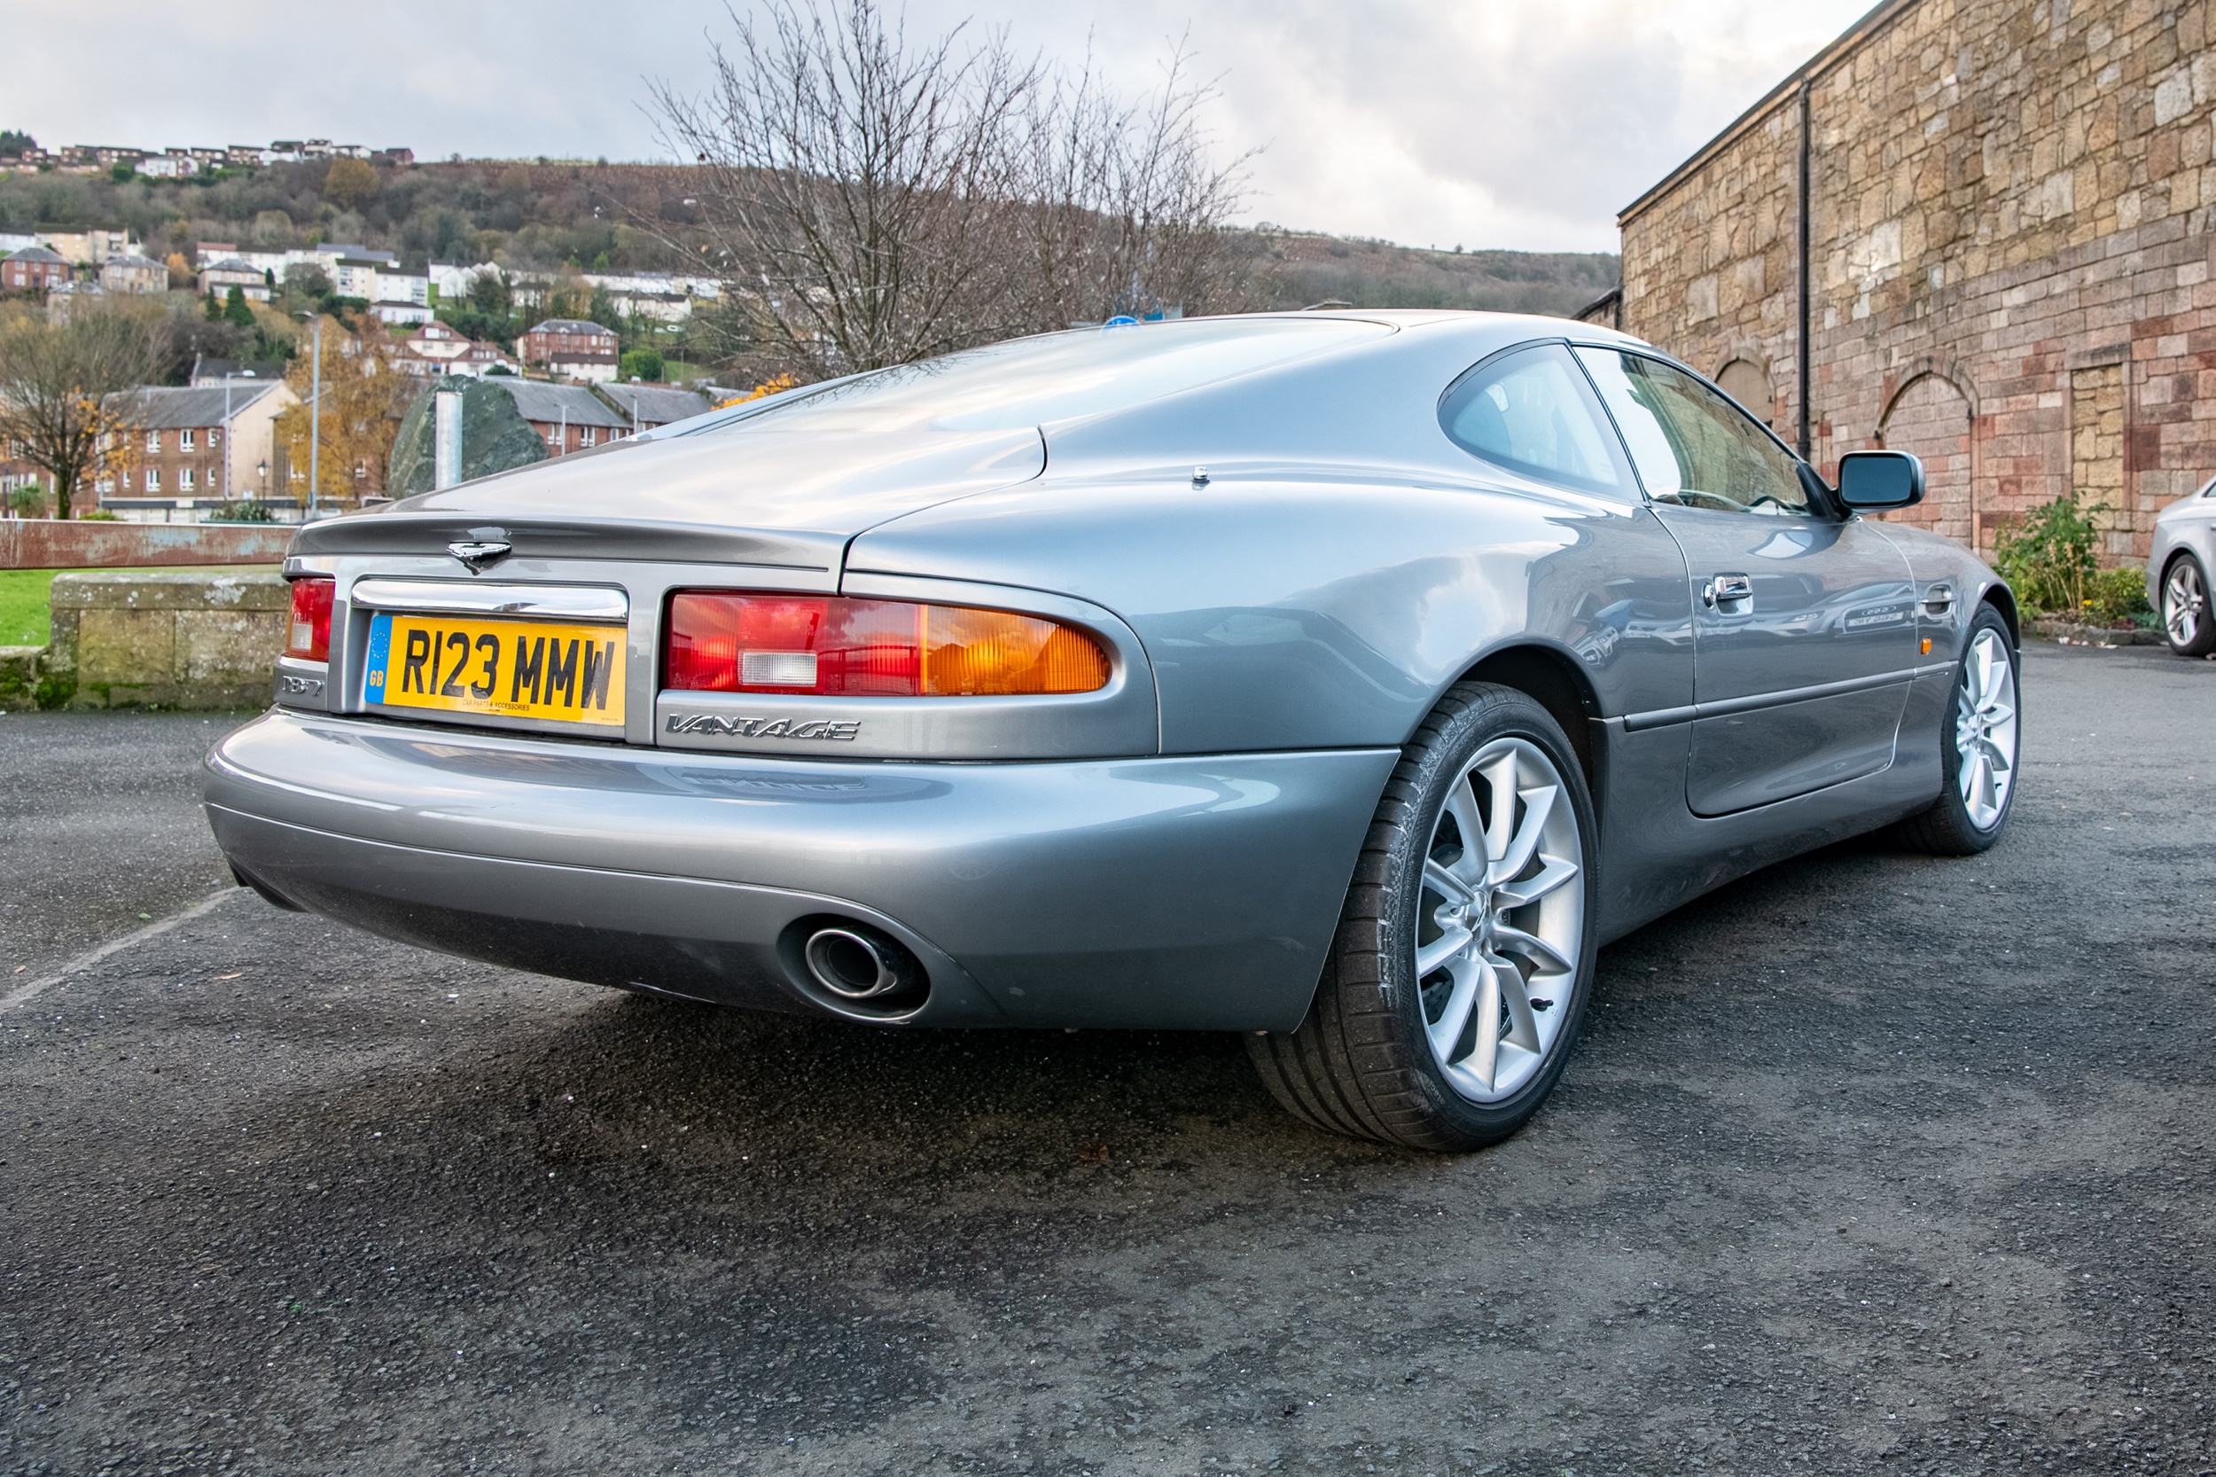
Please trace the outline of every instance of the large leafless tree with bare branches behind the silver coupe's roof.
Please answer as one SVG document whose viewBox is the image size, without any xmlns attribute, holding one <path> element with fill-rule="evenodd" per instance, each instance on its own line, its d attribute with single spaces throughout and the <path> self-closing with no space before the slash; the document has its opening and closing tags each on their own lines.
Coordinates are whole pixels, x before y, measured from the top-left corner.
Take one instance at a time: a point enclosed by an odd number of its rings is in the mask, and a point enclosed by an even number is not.
<svg viewBox="0 0 2216 1477">
<path fill-rule="evenodd" d="M 831 9 L 840 4 L 840 9 Z M 1217 169 L 1179 51 L 1159 95 L 1112 98 L 955 27 L 911 44 L 875 0 L 731 18 L 716 86 L 656 86 L 705 171 L 714 319 L 762 373 L 844 375 L 1101 319 L 1212 306 L 1239 164 Z"/>
</svg>

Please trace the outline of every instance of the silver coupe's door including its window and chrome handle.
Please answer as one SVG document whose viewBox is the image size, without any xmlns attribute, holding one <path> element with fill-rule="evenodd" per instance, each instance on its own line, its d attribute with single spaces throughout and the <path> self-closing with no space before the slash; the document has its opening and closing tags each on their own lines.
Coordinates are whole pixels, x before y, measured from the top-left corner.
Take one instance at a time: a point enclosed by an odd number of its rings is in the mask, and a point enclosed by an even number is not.
<svg viewBox="0 0 2216 1477">
<path fill-rule="evenodd" d="M 1578 357 L 1691 574 L 1693 814 L 1890 765 L 1917 665 L 1901 552 L 1815 503 L 1799 459 L 1706 381 L 1620 348 Z"/>
</svg>

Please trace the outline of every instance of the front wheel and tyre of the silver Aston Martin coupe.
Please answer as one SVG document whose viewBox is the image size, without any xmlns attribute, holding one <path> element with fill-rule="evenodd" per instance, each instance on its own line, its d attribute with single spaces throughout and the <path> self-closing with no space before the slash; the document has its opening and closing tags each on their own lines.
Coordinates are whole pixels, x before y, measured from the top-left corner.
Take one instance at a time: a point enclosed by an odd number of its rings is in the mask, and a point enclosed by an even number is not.
<svg viewBox="0 0 2216 1477">
<path fill-rule="evenodd" d="M 1899 823 L 1901 845 L 1932 856 L 1974 856 L 2008 829 L 2017 803 L 2023 683 L 2008 621 L 1979 605 L 1955 668 L 1955 701 L 1939 723 L 1943 787 L 1930 809 Z"/>
</svg>

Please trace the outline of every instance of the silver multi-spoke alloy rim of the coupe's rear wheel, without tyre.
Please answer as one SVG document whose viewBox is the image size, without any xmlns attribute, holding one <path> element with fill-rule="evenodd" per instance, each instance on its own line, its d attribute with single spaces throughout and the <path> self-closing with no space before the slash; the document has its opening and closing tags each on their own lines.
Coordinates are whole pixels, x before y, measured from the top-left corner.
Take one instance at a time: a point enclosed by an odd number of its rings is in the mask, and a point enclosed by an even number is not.
<svg viewBox="0 0 2216 1477">
<path fill-rule="evenodd" d="M 1547 752 L 1478 750 L 1447 792 L 1425 852 L 1416 980 L 1438 1069 L 1498 1102 L 1556 1051 L 1584 951 L 1584 847 Z"/>
</svg>

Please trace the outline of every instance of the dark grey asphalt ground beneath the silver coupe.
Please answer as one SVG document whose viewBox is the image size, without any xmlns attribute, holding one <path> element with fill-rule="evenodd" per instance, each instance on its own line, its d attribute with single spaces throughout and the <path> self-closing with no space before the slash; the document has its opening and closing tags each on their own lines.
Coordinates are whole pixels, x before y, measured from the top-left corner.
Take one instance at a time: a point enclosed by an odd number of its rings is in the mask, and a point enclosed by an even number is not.
<svg viewBox="0 0 2216 1477">
<path fill-rule="evenodd" d="M 2025 670 L 1994 852 L 1607 949 L 1467 1158 L 224 894 L 0 1009 L 0 1470 L 2216 1470 L 2216 663 Z M 0 719 L 0 969 L 208 896 L 213 732 Z"/>
</svg>

